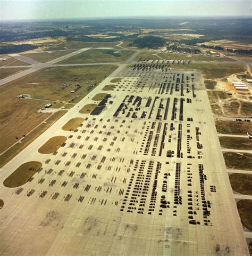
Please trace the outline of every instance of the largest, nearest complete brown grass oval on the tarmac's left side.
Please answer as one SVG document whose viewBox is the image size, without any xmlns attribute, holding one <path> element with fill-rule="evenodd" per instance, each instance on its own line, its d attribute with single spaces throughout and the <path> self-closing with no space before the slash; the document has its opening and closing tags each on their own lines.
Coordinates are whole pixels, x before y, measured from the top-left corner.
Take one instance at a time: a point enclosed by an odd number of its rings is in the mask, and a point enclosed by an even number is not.
<svg viewBox="0 0 252 256">
<path fill-rule="evenodd" d="M 40 162 L 32 161 L 21 164 L 8 178 L 4 180 L 7 188 L 16 188 L 26 182 L 42 167 Z"/>
</svg>

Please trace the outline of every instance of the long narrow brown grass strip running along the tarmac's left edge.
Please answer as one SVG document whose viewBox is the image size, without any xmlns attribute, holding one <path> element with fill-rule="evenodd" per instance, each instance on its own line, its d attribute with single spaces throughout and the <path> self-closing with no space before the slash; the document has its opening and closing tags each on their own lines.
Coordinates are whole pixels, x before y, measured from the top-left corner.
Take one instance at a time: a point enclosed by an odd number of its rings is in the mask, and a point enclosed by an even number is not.
<svg viewBox="0 0 252 256">
<path fill-rule="evenodd" d="M 50 116 L 46 123 L 40 124 L 35 130 L 29 133 L 26 137 L 23 137 L 22 143 L 16 143 L 13 147 L 7 150 L 3 155 L 0 156 L 0 168 L 9 162 L 14 156 L 20 153 L 26 148 L 32 141 L 39 137 L 44 131 L 52 126 L 58 119 L 60 119 L 67 111 L 60 110 Z M 3 140 L 2 140 L 3 141 Z"/>
</svg>

